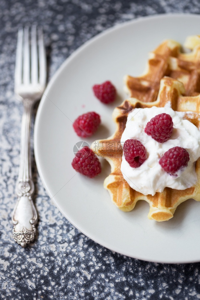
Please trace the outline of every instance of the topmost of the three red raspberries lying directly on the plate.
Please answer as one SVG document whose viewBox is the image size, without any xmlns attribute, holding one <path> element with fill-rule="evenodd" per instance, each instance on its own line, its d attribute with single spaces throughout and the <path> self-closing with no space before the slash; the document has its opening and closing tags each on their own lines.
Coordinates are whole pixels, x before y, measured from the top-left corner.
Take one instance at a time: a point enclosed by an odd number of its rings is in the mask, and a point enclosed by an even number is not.
<svg viewBox="0 0 200 300">
<path fill-rule="evenodd" d="M 102 84 L 95 84 L 92 88 L 96 98 L 103 103 L 107 104 L 116 99 L 117 91 L 110 81 L 105 81 Z"/>
</svg>

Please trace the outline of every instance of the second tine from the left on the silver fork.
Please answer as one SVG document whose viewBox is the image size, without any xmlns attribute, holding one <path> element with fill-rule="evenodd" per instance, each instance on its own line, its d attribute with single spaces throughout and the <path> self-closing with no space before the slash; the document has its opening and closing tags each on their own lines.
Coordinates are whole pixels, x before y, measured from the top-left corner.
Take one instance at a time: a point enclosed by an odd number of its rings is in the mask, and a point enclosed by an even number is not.
<svg viewBox="0 0 200 300">
<path fill-rule="evenodd" d="M 24 47 L 23 47 L 23 83 L 30 82 L 30 44 L 29 27 L 24 29 Z"/>
</svg>

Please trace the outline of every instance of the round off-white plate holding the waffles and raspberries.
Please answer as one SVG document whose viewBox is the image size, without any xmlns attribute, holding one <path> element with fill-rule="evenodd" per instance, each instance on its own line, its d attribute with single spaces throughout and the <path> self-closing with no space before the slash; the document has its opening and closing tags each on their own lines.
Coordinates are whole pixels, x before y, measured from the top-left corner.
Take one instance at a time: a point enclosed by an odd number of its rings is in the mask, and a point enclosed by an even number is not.
<svg viewBox="0 0 200 300">
<path fill-rule="evenodd" d="M 112 204 L 103 181 L 110 173 L 106 161 L 102 174 L 88 179 L 71 167 L 73 146 L 82 140 L 72 122 L 88 111 L 102 117 L 102 126 L 89 139 L 109 137 L 115 130 L 111 114 L 127 96 L 123 76 L 143 73 L 147 55 L 164 39 L 183 43 L 200 34 L 198 15 L 158 15 L 126 22 L 81 46 L 59 68 L 40 102 L 35 122 L 35 158 L 41 180 L 62 214 L 97 243 L 127 256 L 154 262 L 200 261 L 200 203 L 188 200 L 168 222 L 149 220 L 149 205 L 139 201 L 123 212 Z M 111 80 L 119 99 L 104 105 L 92 85 Z"/>
</svg>

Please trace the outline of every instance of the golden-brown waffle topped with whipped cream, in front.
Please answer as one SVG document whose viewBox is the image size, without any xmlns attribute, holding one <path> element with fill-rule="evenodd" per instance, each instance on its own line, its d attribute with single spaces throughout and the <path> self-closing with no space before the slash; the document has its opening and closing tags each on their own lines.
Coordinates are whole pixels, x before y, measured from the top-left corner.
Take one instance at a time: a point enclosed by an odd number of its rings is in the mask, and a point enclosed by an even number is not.
<svg viewBox="0 0 200 300">
<path fill-rule="evenodd" d="M 98 140 L 92 144 L 92 149 L 97 155 L 104 157 L 111 165 L 111 174 L 105 179 L 104 187 L 109 191 L 114 204 L 123 211 L 130 211 L 135 207 L 138 200 L 145 200 L 150 205 L 149 219 L 165 221 L 173 217 L 177 206 L 193 198 L 200 201 L 200 159 L 196 162 L 197 183 L 185 190 L 175 190 L 165 187 L 162 193 L 154 196 L 144 196 L 133 190 L 120 171 L 122 161 L 122 147 L 120 139 L 126 127 L 127 116 L 134 108 L 164 107 L 167 105 L 173 110 L 185 112 L 184 119 L 188 119 L 200 129 L 200 95 L 183 96 L 185 88 L 183 83 L 164 77 L 161 79 L 157 100 L 145 103 L 136 98 L 129 98 L 113 112 L 113 120 L 116 123 L 116 131 L 113 136 L 106 140 Z M 192 113 L 191 113 L 192 112 Z"/>
</svg>

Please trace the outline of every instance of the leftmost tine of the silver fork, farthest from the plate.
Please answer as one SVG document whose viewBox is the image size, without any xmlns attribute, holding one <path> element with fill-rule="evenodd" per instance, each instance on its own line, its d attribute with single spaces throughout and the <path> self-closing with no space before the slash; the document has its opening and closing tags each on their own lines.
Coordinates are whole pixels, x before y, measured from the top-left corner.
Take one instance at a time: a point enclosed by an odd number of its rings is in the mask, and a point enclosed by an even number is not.
<svg viewBox="0 0 200 300">
<path fill-rule="evenodd" d="M 17 35 L 17 50 L 16 50 L 16 63 L 15 63 L 15 90 L 22 82 L 22 49 L 23 49 L 23 28 L 18 30 Z"/>
</svg>

